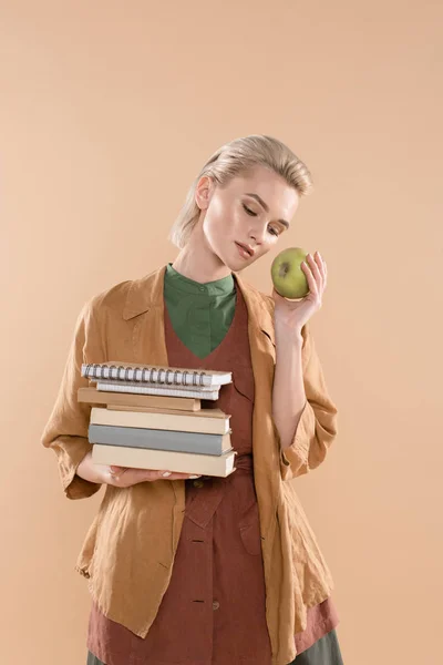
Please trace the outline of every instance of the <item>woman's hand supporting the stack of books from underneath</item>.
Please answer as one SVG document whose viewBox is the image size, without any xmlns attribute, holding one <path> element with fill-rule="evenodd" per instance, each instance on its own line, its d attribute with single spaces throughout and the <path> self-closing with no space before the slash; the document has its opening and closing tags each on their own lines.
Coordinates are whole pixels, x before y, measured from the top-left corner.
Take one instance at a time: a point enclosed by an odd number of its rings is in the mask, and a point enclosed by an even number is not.
<svg viewBox="0 0 443 665">
<path fill-rule="evenodd" d="M 114 467 L 107 464 L 94 464 L 92 452 L 80 462 L 76 474 L 91 482 L 106 483 L 115 488 L 130 488 L 140 482 L 153 482 L 154 480 L 187 480 L 199 478 L 198 474 L 176 473 L 166 470 L 154 471 L 152 469 L 127 469 L 126 467 Z"/>
</svg>

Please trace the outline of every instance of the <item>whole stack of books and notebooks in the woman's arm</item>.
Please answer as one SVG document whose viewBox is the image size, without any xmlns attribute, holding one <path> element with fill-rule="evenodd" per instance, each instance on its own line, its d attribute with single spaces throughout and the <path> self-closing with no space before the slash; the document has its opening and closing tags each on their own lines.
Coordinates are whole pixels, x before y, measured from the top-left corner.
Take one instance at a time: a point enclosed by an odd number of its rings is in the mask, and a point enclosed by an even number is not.
<svg viewBox="0 0 443 665">
<path fill-rule="evenodd" d="M 82 365 L 92 405 L 89 441 L 97 464 L 226 478 L 234 471 L 230 416 L 202 408 L 217 400 L 231 372 L 110 361 Z"/>
</svg>

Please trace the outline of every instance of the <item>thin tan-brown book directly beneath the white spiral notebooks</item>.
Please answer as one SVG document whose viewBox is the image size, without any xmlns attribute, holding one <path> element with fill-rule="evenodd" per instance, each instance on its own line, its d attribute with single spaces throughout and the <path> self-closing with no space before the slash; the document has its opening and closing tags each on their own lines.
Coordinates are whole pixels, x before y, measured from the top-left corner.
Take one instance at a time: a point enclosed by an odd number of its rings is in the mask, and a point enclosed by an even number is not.
<svg viewBox="0 0 443 665">
<path fill-rule="evenodd" d="M 176 409 L 178 411 L 198 411 L 199 399 L 194 397 L 162 397 L 157 395 L 137 395 L 128 392 L 105 392 L 95 387 L 79 388 L 78 400 L 89 405 L 106 405 L 107 408 L 157 408 Z"/>
</svg>

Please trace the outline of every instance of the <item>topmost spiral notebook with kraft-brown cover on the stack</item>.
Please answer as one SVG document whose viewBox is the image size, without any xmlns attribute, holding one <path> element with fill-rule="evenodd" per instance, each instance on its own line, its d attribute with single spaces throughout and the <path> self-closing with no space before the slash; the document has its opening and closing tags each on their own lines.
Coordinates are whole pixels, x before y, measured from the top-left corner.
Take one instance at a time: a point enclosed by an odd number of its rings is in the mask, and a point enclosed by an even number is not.
<svg viewBox="0 0 443 665">
<path fill-rule="evenodd" d="M 115 360 L 103 364 L 83 364 L 82 377 L 91 380 L 131 382 L 135 385 L 171 386 L 173 388 L 214 389 L 233 380 L 233 372 L 184 367 L 154 367 L 152 365 L 136 365 Z"/>
</svg>

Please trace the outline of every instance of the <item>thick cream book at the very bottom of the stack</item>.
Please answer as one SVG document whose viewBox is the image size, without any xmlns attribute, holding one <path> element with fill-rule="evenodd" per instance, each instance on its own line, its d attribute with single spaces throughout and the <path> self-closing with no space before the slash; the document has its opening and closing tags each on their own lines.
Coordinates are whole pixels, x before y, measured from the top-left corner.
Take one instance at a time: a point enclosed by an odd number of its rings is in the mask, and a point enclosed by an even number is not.
<svg viewBox="0 0 443 665">
<path fill-rule="evenodd" d="M 92 447 L 92 461 L 96 464 L 154 469 L 157 471 L 164 469 L 177 473 L 198 473 L 220 478 L 226 478 L 235 471 L 236 454 L 235 450 L 220 456 L 212 456 L 122 446 L 95 444 Z"/>
</svg>

